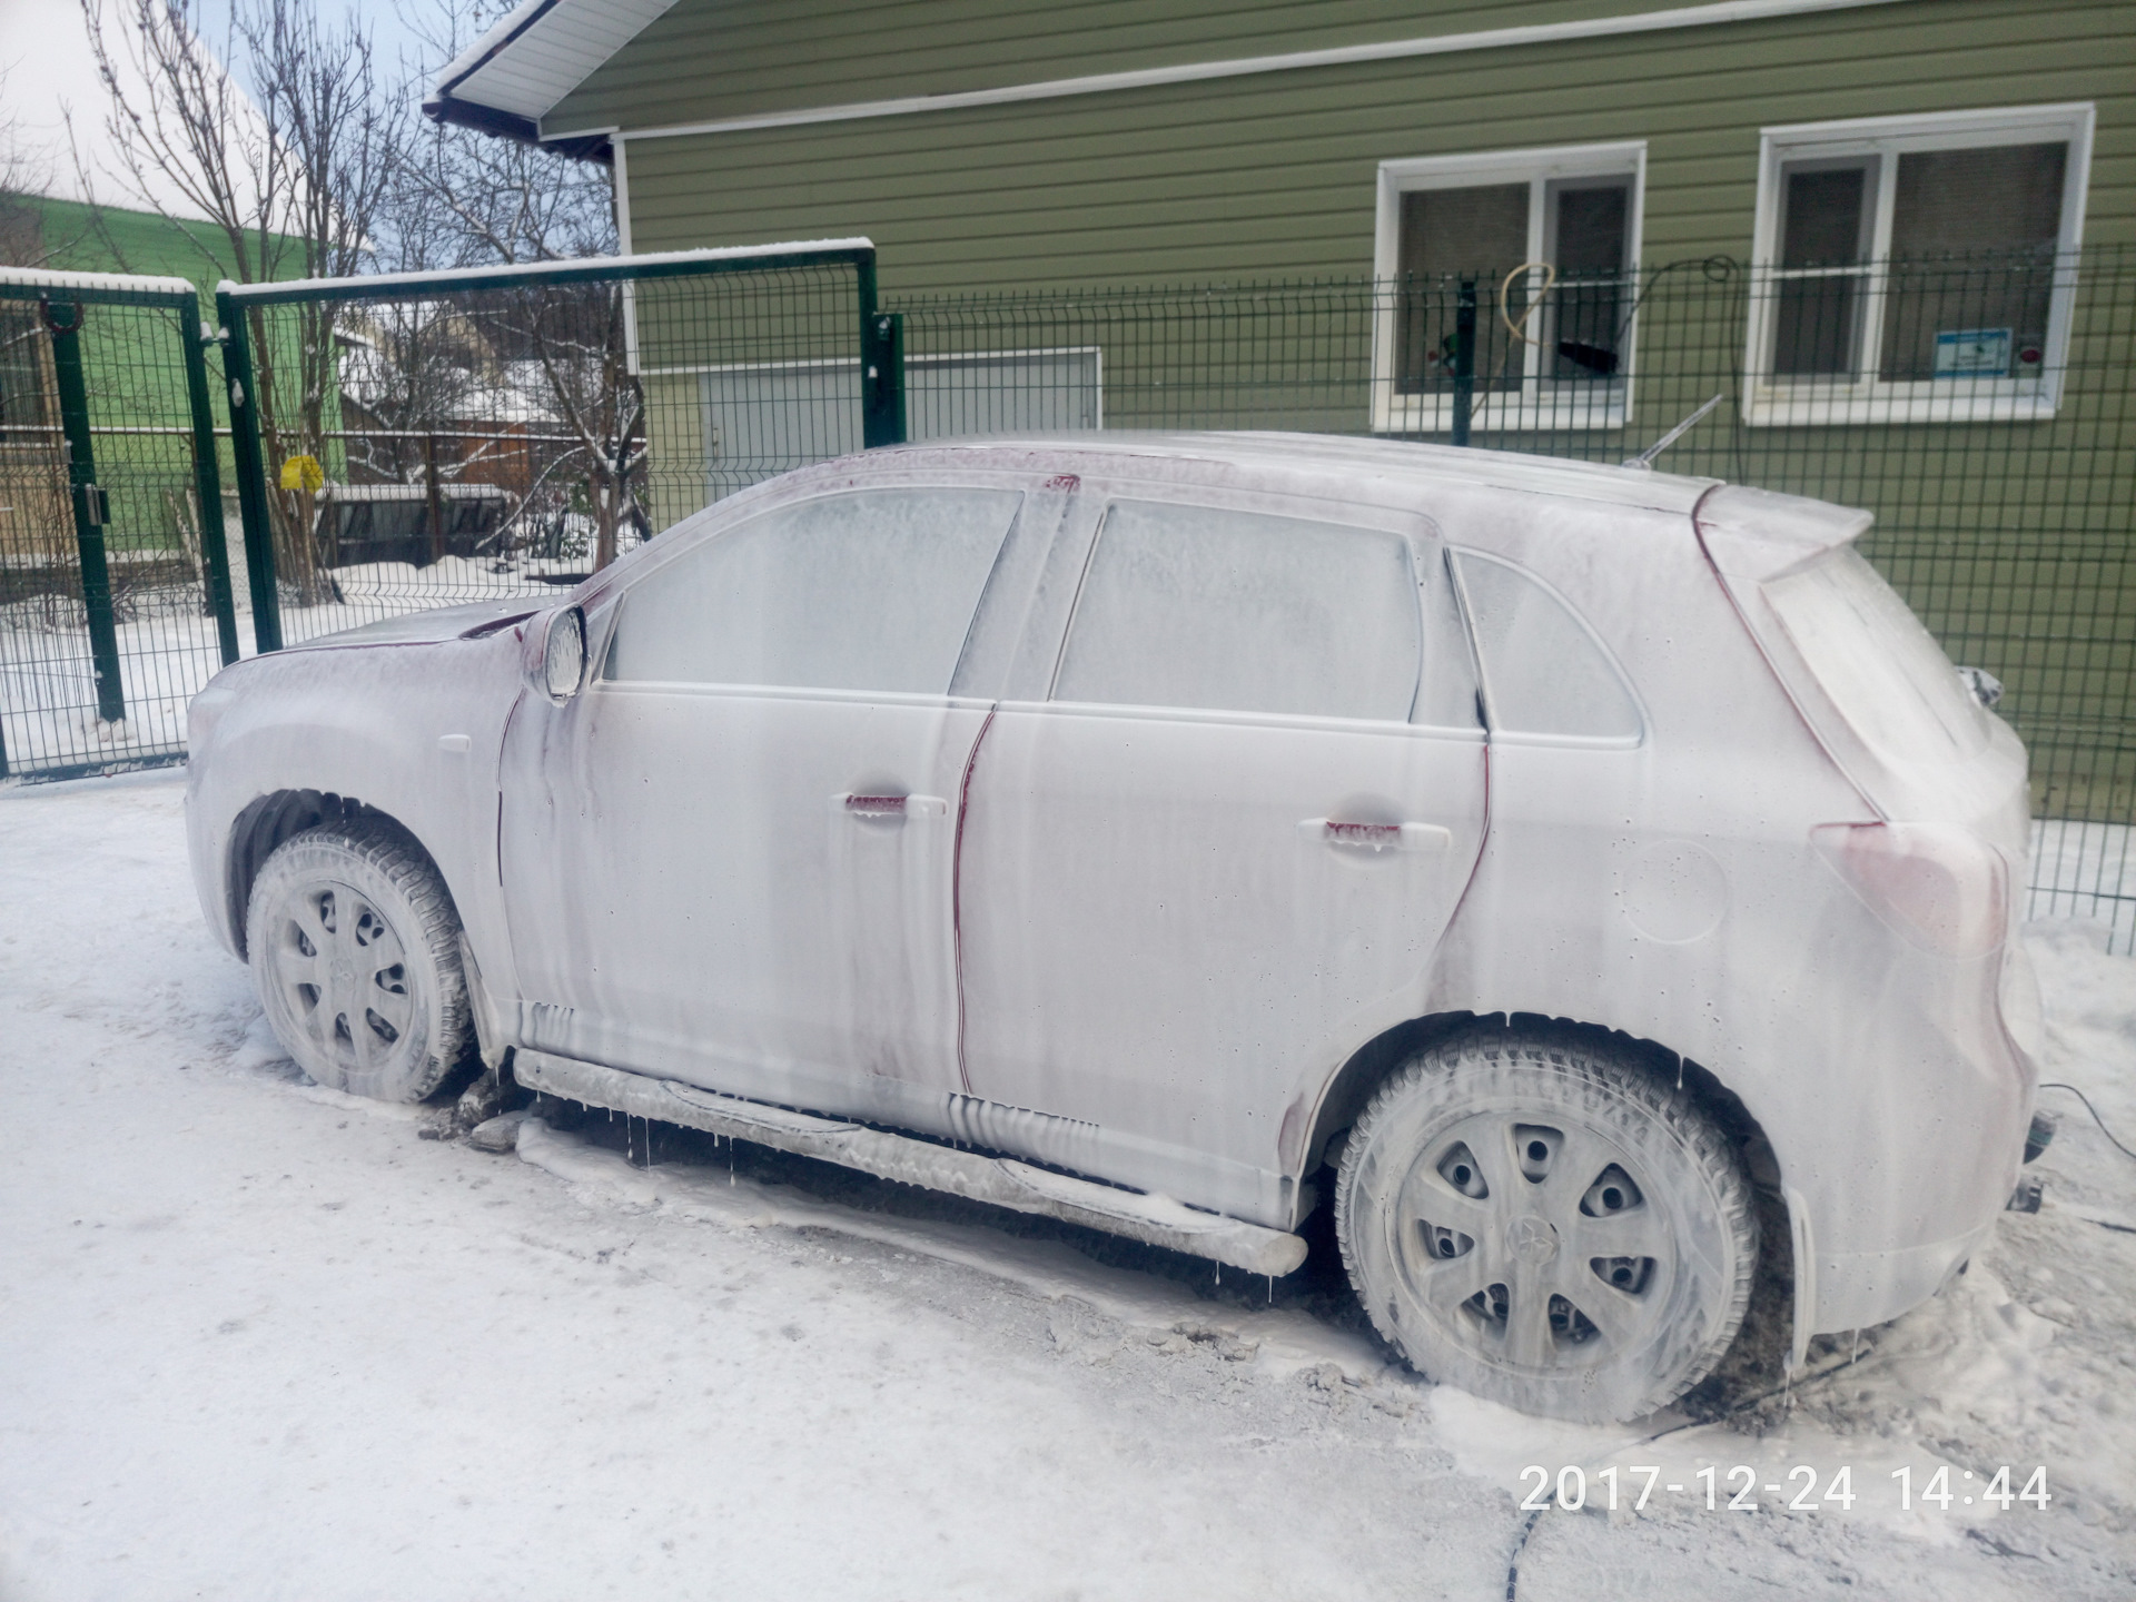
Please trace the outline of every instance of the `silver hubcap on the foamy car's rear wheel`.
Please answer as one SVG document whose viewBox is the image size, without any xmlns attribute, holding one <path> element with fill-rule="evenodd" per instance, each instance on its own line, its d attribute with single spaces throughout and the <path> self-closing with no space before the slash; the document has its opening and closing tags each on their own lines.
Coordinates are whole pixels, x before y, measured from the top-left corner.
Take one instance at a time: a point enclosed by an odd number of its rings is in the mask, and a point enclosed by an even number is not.
<svg viewBox="0 0 2136 1602">
<path fill-rule="evenodd" d="M 1630 1153 L 1572 1119 L 1448 1126 L 1391 1222 L 1420 1312 L 1517 1369 L 1589 1369 L 1640 1346 L 1677 1282 L 1675 1228 Z"/>
</svg>

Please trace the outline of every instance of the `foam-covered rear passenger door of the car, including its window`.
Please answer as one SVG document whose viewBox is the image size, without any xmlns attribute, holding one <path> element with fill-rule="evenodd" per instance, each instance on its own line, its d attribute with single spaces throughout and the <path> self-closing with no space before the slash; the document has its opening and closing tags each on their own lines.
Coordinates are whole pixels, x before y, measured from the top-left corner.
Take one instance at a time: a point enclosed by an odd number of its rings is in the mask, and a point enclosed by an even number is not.
<svg viewBox="0 0 2136 1602">
<path fill-rule="evenodd" d="M 1049 690 L 972 769 L 972 1091 L 1288 1222 L 1312 1098 L 1414 1015 L 1482 842 L 1467 662 L 1420 517 L 1111 496 Z"/>
</svg>

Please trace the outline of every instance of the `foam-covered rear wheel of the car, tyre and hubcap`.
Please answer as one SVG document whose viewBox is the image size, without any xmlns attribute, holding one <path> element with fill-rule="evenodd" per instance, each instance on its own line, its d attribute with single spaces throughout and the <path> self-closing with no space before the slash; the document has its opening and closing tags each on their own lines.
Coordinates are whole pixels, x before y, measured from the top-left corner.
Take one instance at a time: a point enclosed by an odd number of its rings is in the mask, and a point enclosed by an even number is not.
<svg viewBox="0 0 2136 1602">
<path fill-rule="evenodd" d="M 1344 1149 L 1344 1265 L 1431 1380 L 1589 1423 L 1728 1350 L 1758 1220 L 1728 1136 L 1630 1051 L 1478 1030 L 1405 1064 Z"/>
</svg>

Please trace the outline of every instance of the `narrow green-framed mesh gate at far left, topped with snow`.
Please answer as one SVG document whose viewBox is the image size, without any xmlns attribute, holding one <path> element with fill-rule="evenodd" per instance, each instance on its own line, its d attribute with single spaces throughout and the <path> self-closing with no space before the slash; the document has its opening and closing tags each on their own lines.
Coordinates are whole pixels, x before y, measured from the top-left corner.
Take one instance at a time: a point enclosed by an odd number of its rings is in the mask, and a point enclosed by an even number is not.
<svg viewBox="0 0 2136 1602">
<path fill-rule="evenodd" d="M 186 756 L 237 660 L 201 301 L 0 267 L 0 778 Z"/>
</svg>

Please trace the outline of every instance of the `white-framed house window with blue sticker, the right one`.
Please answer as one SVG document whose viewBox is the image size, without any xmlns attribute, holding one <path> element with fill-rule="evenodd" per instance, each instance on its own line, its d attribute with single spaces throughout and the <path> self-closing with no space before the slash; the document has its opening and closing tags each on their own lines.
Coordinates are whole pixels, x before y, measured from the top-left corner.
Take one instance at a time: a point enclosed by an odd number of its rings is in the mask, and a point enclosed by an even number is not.
<svg viewBox="0 0 2136 1602">
<path fill-rule="evenodd" d="M 2053 417 L 2091 107 L 1769 128 L 1752 423 Z"/>
</svg>

